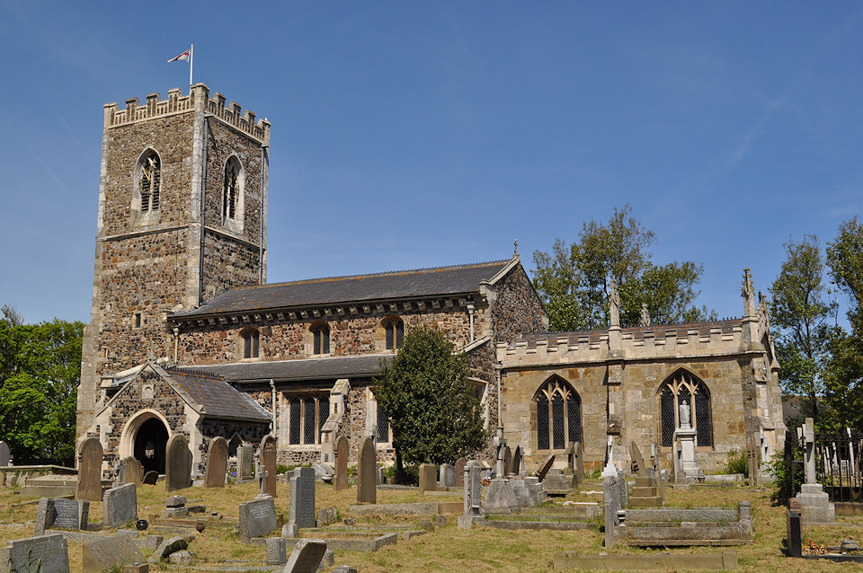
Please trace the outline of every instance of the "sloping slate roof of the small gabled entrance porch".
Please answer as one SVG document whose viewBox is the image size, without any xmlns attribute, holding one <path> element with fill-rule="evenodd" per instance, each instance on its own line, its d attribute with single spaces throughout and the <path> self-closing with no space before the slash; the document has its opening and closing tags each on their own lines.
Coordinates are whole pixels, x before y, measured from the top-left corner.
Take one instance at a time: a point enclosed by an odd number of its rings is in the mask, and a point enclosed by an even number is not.
<svg viewBox="0 0 863 573">
<path fill-rule="evenodd" d="M 252 398 L 239 392 L 218 375 L 189 369 L 166 369 L 189 399 L 203 406 L 203 415 L 219 419 L 251 419 L 270 421 L 271 414 Z"/>
</svg>

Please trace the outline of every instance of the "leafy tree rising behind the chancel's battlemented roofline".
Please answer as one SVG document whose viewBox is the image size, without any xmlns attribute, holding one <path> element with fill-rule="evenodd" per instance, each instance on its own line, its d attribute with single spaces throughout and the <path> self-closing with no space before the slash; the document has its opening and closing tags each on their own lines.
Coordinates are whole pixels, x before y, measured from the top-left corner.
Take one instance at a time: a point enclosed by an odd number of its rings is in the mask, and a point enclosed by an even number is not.
<svg viewBox="0 0 863 573">
<path fill-rule="evenodd" d="M 615 208 L 608 223 L 583 223 L 578 242 L 557 239 L 552 251 L 534 251 L 534 287 L 546 304 L 553 331 L 597 329 L 609 324 L 609 279 L 618 283 L 620 324 L 641 321 L 642 304 L 657 323 L 715 319 L 715 312 L 693 301 L 702 265 L 685 260 L 654 265 L 656 242 L 632 207 Z"/>
</svg>

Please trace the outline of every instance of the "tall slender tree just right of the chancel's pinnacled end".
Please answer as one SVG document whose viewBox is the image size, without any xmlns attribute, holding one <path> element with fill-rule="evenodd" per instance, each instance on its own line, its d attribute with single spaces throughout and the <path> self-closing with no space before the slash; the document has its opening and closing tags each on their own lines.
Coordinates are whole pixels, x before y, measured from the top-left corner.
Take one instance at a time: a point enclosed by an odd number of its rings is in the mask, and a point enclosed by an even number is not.
<svg viewBox="0 0 863 573">
<path fill-rule="evenodd" d="M 823 366 L 829 353 L 831 305 L 824 301 L 824 260 L 818 237 L 785 244 L 786 260 L 770 286 L 770 318 L 785 392 L 805 396 L 804 416 L 818 418 Z"/>
</svg>

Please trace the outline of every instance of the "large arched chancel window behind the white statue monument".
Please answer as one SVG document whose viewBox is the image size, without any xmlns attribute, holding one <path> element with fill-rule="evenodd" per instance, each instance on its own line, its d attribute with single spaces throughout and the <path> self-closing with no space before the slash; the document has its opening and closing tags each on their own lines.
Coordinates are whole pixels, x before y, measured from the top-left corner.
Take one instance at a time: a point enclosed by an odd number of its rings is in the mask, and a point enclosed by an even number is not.
<svg viewBox="0 0 863 573">
<path fill-rule="evenodd" d="M 663 424 L 663 445 L 674 443 L 674 431 L 681 427 L 681 403 L 690 406 L 690 426 L 698 430 L 696 445 L 713 445 L 713 421 L 707 384 L 685 370 L 675 372 L 659 387 Z"/>
</svg>

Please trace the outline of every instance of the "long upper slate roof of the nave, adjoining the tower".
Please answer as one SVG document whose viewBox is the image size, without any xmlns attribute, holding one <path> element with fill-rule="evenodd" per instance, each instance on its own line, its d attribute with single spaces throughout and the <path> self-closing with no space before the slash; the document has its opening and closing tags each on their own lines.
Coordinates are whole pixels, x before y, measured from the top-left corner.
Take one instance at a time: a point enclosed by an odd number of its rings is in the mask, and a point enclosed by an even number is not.
<svg viewBox="0 0 863 573">
<path fill-rule="evenodd" d="M 398 270 L 354 277 L 312 278 L 288 283 L 235 288 L 216 295 L 196 309 L 172 318 L 218 313 L 244 313 L 277 308 L 350 304 L 398 298 L 460 295 L 479 291 L 511 260 L 494 260 L 437 269 Z"/>
</svg>

